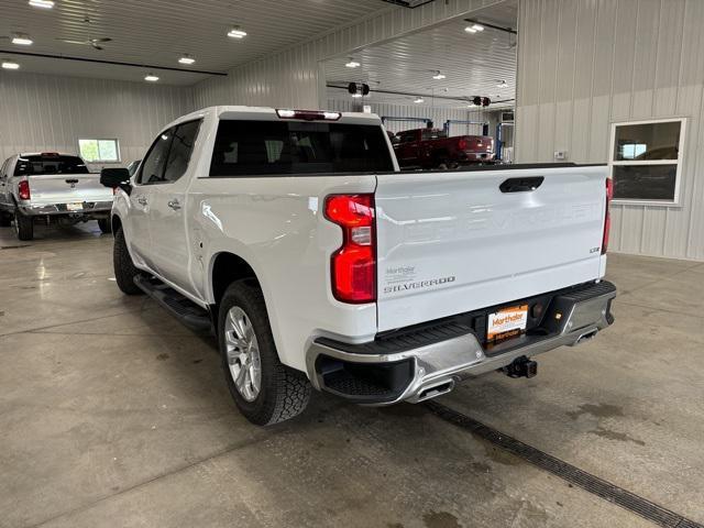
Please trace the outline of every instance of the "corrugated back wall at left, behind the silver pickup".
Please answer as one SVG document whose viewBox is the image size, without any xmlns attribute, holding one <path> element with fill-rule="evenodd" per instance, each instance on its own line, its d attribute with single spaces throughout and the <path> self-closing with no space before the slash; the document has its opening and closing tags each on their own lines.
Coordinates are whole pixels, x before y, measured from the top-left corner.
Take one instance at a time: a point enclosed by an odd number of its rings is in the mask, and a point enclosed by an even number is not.
<svg viewBox="0 0 704 528">
<path fill-rule="evenodd" d="M 160 128 L 191 110 L 190 88 L 0 73 L 0 160 L 77 153 L 79 138 L 117 138 L 127 164 L 144 154 Z"/>
</svg>

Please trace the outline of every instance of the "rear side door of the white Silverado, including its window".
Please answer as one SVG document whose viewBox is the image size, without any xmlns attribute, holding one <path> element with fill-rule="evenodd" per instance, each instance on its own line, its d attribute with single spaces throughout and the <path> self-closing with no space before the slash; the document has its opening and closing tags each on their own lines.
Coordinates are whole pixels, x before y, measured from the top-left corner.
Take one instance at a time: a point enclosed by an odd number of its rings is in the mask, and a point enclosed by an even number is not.
<svg viewBox="0 0 704 528">
<path fill-rule="evenodd" d="M 165 165 L 163 183 L 155 185 L 151 197 L 150 231 L 152 256 L 158 275 L 195 294 L 189 276 L 190 252 L 186 226 L 187 176 L 200 121 L 176 127 Z"/>
</svg>

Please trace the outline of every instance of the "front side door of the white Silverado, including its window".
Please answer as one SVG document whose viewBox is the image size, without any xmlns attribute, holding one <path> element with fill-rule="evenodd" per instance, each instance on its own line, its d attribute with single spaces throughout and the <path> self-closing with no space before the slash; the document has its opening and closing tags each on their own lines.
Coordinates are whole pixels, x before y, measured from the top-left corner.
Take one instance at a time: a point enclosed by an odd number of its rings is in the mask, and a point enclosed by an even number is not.
<svg viewBox="0 0 704 528">
<path fill-rule="evenodd" d="M 154 195 L 164 182 L 164 167 L 170 147 L 173 129 L 162 132 L 150 147 L 144 163 L 134 177 L 130 195 L 130 213 L 124 226 L 132 257 L 142 261 L 153 271 L 155 258 L 150 230 L 150 217 L 153 215 Z"/>
</svg>

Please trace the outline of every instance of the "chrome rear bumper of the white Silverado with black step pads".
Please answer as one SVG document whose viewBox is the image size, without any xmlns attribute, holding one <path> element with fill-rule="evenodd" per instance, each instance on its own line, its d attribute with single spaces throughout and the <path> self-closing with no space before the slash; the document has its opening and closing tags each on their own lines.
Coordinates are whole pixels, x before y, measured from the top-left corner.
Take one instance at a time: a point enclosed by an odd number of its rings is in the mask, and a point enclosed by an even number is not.
<svg viewBox="0 0 704 528">
<path fill-rule="evenodd" d="M 475 377 L 562 345 L 575 345 L 613 323 L 610 302 L 616 288 L 608 282 L 557 295 L 538 334 L 521 336 L 491 349 L 469 328 L 433 328 L 428 336 L 407 337 L 405 346 L 388 343 L 350 345 L 315 340 L 307 351 L 308 376 L 317 389 L 367 405 L 418 403 Z M 559 316 L 558 316 L 559 314 Z M 414 345 L 409 342 L 420 342 Z"/>
</svg>

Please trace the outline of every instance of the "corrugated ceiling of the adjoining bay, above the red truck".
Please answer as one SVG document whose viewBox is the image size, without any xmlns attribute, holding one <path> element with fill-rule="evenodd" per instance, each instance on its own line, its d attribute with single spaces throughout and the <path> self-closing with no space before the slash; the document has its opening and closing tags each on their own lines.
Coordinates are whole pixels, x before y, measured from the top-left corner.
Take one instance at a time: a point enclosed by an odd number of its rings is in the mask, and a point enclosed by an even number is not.
<svg viewBox="0 0 704 528">
<path fill-rule="evenodd" d="M 502 28 L 516 29 L 517 2 L 509 1 L 477 13 L 474 19 Z M 350 57 L 326 62 L 328 82 L 345 85 L 366 82 L 372 90 L 402 91 L 421 95 L 424 105 L 466 107 L 446 98 L 490 97 L 493 101 L 509 101 L 516 97 L 516 35 L 485 28 L 466 33 L 469 24 L 457 20 L 431 30 L 414 33 L 382 45 L 362 50 Z M 359 68 L 348 68 L 353 58 Z M 436 80 L 440 72 L 444 79 Z M 499 81 L 505 87 L 498 87 Z M 344 90 L 329 89 L 329 97 L 351 97 Z M 374 102 L 408 105 L 408 95 L 372 92 Z"/>
</svg>

